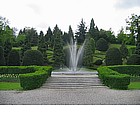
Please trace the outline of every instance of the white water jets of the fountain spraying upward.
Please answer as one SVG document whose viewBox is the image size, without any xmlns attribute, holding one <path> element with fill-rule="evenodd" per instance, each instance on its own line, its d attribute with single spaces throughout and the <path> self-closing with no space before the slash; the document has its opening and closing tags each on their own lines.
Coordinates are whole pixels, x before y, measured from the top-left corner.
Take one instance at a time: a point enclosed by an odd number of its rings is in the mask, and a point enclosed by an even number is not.
<svg viewBox="0 0 140 140">
<path fill-rule="evenodd" d="M 83 45 L 80 48 L 78 48 L 77 42 L 74 42 L 71 39 L 71 43 L 68 44 L 68 46 L 69 46 L 69 69 L 72 72 L 78 71 L 78 69 L 82 65 L 85 43 L 86 43 L 86 41 L 84 41 Z"/>
</svg>

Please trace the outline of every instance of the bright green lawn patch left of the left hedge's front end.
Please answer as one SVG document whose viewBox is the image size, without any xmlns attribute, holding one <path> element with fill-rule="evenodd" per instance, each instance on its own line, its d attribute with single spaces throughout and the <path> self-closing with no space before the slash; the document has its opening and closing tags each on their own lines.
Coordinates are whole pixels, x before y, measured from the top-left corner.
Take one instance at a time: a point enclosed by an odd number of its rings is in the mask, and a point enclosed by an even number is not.
<svg viewBox="0 0 140 140">
<path fill-rule="evenodd" d="M 20 83 L 0 82 L 0 90 L 22 90 Z"/>
</svg>

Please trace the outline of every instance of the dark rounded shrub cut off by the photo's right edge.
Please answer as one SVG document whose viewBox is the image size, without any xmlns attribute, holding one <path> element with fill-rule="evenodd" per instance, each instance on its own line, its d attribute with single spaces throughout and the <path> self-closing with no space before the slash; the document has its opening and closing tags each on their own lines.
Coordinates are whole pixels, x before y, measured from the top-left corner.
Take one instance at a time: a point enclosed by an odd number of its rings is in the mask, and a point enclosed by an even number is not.
<svg viewBox="0 0 140 140">
<path fill-rule="evenodd" d="M 128 65 L 140 65 L 140 55 L 133 54 L 127 60 Z"/>
</svg>

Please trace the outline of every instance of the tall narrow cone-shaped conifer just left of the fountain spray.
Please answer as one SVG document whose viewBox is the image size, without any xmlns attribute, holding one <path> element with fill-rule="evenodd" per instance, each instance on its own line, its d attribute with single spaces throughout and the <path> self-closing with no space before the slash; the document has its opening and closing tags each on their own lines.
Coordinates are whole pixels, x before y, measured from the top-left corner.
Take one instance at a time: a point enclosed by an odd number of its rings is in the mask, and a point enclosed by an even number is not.
<svg viewBox="0 0 140 140">
<path fill-rule="evenodd" d="M 63 41 L 61 36 L 61 31 L 59 30 L 58 26 L 55 27 L 54 31 L 54 67 L 60 68 L 64 64 L 64 51 L 63 51 Z"/>
</svg>

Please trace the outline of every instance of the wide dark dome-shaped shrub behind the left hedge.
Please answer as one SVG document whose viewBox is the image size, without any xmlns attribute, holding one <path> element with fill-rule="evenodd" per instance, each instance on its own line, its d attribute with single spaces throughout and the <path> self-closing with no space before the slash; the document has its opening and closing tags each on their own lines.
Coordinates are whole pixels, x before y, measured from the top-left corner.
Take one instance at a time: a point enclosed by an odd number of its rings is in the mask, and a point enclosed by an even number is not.
<svg viewBox="0 0 140 140">
<path fill-rule="evenodd" d="M 23 66 L 29 66 L 29 65 L 37 65 L 37 66 L 43 66 L 44 60 L 43 55 L 38 50 L 27 50 L 23 57 Z"/>
</svg>

